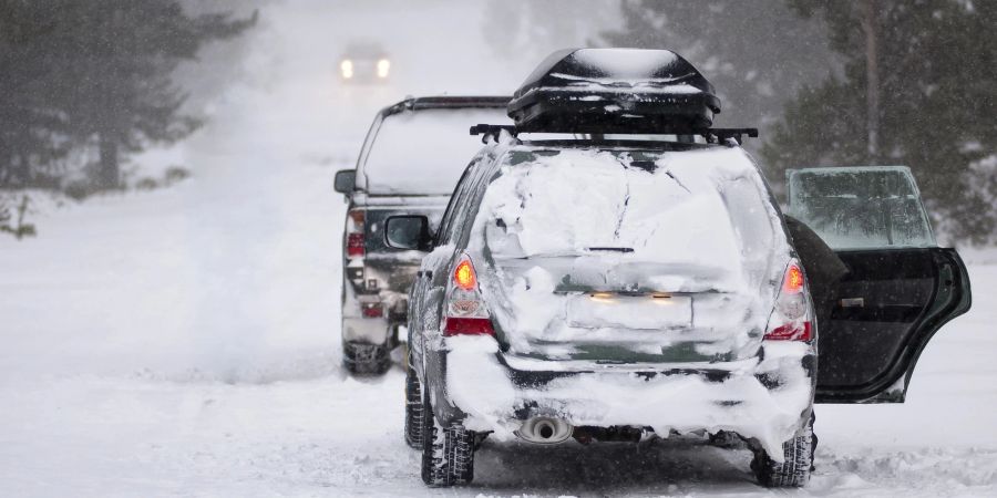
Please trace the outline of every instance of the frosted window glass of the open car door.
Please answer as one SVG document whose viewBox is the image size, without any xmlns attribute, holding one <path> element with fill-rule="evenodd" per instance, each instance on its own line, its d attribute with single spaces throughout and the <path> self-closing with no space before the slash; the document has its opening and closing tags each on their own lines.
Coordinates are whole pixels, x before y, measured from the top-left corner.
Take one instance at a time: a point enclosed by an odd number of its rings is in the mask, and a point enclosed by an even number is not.
<svg viewBox="0 0 997 498">
<path fill-rule="evenodd" d="M 906 166 L 790 169 L 789 214 L 833 249 L 935 247 Z"/>
</svg>

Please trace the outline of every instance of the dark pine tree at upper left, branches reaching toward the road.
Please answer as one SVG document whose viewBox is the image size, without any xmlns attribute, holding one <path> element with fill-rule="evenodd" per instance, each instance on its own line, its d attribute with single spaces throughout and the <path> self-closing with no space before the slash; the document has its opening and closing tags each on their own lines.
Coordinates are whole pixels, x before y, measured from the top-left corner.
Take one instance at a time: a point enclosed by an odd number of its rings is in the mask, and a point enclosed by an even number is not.
<svg viewBox="0 0 997 498">
<path fill-rule="evenodd" d="M 20 105 L 19 120 L 30 122 L 32 113 L 56 118 L 59 128 L 48 131 L 61 142 L 95 144 L 94 179 L 103 188 L 120 185 L 122 154 L 177 141 L 198 126 L 182 113 L 185 96 L 171 73 L 205 43 L 239 34 L 256 20 L 192 17 L 176 0 L 0 0 L 0 11 L 16 28 L 35 32 L 30 43 L 14 42 L 18 58 L 8 68 L 35 95 Z"/>
</svg>

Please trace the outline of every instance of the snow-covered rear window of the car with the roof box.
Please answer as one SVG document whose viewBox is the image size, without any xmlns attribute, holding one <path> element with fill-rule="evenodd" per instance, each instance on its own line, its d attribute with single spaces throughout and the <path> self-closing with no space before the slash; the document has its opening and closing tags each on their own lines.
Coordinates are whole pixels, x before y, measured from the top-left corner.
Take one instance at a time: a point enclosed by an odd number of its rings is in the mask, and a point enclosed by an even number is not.
<svg viewBox="0 0 997 498">
<path fill-rule="evenodd" d="M 479 220 L 496 259 L 598 253 L 738 272 L 767 268 L 778 243 L 768 199 L 736 148 L 513 149 Z"/>
</svg>

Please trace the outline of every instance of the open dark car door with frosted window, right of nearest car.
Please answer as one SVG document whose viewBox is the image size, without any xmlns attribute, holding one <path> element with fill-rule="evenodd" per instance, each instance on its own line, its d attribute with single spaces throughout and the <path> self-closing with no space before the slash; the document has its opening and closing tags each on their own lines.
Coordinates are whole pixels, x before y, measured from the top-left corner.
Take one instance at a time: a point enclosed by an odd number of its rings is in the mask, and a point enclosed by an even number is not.
<svg viewBox="0 0 997 498">
<path fill-rule="evenodd" d="M 905 166 L 790 169 L 787 188 L 849 268 L 818 323 L 816 402 L 903 403 L 928 340 L 969 309 L 963 260 L 935 243 Z"/>
</svg>

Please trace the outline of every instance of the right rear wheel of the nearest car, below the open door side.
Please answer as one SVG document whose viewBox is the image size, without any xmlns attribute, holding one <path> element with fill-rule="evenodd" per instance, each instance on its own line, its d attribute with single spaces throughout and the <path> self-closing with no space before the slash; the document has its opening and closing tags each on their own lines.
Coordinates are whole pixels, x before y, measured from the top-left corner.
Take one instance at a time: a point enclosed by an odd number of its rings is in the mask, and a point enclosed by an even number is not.
<svg viewBox="0 0 997 498">
<path fill-rule="evenodd" d="M 784 461 L 773 460 L 764 449 L 754 449 L 751 470 L 769 488 L 799 488 L 810 481 L 813 468 L 813 419 L 795 437 L 782 444 Z"/>
</svg>

